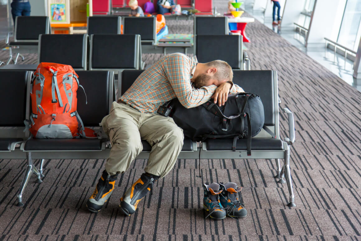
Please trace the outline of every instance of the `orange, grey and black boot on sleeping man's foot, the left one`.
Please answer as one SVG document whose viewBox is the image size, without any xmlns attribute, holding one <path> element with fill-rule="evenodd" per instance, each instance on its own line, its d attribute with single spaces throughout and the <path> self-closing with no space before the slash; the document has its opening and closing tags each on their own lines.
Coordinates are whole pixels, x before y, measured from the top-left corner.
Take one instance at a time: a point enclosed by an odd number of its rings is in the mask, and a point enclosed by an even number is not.
<svg viewBox="0 0 361 241">
<path fill-rule="evenodd" d="M 118 174 L 109 175 L 106 170 L 103 171 L 93 194 L 88 199 L 87 208 L 89 211 L 99 212 L 101 210 L 104 203 L 112 195 L 117 177 Z"/>
</svg>

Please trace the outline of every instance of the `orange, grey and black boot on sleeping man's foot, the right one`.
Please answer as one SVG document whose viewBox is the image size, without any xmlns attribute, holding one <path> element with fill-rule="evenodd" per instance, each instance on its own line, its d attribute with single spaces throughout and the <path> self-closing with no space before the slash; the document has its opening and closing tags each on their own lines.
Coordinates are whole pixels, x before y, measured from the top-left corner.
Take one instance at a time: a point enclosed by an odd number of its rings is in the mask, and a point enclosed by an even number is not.
<svg viewBox="0 0 361 241">
<path fill-rule="evenodd" d="M 143 173 L 138 181 L 134 182 L 133 185 L 125 192 L 120 198 L 120 209 L 127 216 L 133 214 L 140 200 L 153 188 L 153 183 L 159 178 L 149 173 Z M 151 191 L 152 194 L 152 191 Z"/>
</svg>

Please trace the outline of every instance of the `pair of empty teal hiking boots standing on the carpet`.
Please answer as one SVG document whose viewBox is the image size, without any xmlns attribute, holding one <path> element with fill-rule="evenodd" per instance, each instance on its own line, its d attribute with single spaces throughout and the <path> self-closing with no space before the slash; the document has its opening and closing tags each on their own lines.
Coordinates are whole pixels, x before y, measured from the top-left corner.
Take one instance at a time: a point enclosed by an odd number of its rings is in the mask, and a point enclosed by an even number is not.
<svg viewBox="0 0 361 241">
<path fill-rule="evenodd" d="M 234 182 L 211 183 L 206 182 L 203 186 L 203 208 L 209 211 L 208 216 L 212 219 L 225 219 L 226 215 L 232 218 L 247 216 L 247 210 L 240 201 L 242 187 L 237 187 Z M 207 216 L 207 217 L 208 217 Z"/>
</svg>

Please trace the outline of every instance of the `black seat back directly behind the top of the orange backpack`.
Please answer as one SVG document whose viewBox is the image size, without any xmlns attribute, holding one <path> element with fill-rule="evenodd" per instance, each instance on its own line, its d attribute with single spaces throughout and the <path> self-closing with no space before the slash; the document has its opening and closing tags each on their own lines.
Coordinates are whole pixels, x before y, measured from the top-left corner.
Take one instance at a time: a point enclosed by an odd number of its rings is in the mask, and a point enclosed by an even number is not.
<svg viewBox="0 0 361 241">
<path fill-rule="evenodd" d="M 87 69 L 87 34 L 39 35 L 38 64 L 69 64 L 75 70 Z"/>
</svg>

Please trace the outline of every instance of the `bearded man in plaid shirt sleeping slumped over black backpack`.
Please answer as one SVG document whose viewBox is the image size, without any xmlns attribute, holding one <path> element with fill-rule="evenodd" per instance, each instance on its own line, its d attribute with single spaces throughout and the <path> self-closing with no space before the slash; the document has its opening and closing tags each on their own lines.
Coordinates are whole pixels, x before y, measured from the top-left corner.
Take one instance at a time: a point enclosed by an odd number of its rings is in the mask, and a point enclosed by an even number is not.
<svg viewBox="0 0 361 241">
<path fill-rule="evenodd" d="M 186 108 L 199 106 L 211 97 L 214 103 L 224 105 L 229 93 L 244 92 L 232 83 L 232 78 L 232 68 L 222 60 L 197 63 L 196 56 L 189 58 L 180 53 L 166 55 L 146 69 L 118 102 L 113 102 L 110 114 L 101 122 L 112 149 L 87 201 L 88 210 L 101 210 L 113 192 L 118 174 L 124 173 L 142 151 L 143 139 L 152 146 L 147 166 L 120 199 L 122 212 L 128 216 L 134 213 L 153 183 L 173 169 L 183 147 L 183 130 L 172 118 L 157 114 L 158 108 L 174 98 Z"/>
</svg>

